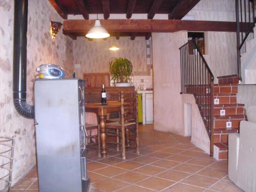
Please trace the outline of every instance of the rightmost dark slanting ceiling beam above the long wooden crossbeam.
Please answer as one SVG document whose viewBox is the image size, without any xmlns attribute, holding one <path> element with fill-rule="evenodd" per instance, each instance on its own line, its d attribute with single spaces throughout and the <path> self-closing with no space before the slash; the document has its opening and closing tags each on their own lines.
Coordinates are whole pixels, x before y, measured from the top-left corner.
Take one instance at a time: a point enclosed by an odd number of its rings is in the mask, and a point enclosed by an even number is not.
<svg viewBox="0 0 256 192">
<path fill-rule="evenodd" d="M 168 19 L 182 19 L 200 0 L 180 0 L 168 14 Z"/>
</svg>

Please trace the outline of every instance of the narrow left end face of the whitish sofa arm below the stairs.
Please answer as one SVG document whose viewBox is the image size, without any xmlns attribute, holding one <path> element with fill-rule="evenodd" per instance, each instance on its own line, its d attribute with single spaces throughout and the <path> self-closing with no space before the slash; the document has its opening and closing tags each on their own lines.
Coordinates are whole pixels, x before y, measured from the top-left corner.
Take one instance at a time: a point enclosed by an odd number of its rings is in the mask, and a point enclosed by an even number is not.
<svg viewBox="0 0 256 192">
<path fill-rule="evenodd" d="M 239 134 L 228 135 L 228 178 L 236 183 L 238 172 Z"/>
</svg>

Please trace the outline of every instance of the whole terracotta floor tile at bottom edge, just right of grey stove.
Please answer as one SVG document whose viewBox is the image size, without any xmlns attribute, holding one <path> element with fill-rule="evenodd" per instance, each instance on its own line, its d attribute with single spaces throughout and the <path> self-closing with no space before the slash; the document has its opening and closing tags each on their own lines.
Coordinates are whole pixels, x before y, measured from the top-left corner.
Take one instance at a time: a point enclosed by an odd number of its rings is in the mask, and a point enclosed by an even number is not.
<svg viewBox="0 0 256 192">
<path fill-rule="evenodd" d="M 122 181 L 115 180 L 115 179 L 105 179 L 105 180 L 93 183 L 92 187 L 100 189 L 102 191 L 112 192 L 114 190 L 123 188 L 127 185 L 129 185 L 129 184 L 125 183 L 125 182 L 122 182 Z"/>
</svg>

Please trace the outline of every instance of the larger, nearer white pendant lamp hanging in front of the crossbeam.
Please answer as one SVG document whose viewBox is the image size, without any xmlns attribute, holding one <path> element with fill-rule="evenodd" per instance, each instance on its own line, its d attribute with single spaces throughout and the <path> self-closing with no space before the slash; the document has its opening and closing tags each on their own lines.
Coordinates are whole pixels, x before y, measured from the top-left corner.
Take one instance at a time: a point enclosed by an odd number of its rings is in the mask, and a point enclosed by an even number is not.
<svg viewBox="0 0 256 192">
<path fill-rule="evenodd" d="M 108 33 L 108 31 L 106 31 L 105 28 L 103 28 L 100 25 L 100 21 L 98 19 L 98 0 L 97 0 L 97 19 L 95 20 L 94 26 L 86 34 L 86 37 L 93 38 L 93 39 L 101 39 L 109 36 L 110 34 Z"/>
</svg>

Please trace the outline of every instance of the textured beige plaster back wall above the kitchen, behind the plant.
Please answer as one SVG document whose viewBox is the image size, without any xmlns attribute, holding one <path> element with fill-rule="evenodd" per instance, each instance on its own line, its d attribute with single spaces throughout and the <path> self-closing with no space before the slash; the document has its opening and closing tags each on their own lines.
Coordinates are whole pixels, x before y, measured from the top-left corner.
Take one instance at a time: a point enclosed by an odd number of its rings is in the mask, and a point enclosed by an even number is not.
<svg viewBox="0 0 256 192">
<path fill-rule="evenodd" d="M 115 40 L 119 46 L 118 51 L 110 51 L 113 38 L 106 40 L 95 39 L 92 41 L 78 37 L 73 43 L 74 64 L 80 64 L 76 69 L 77 76 L 82 78 L 83 73 L 109 72 L 109 60 L 112 57 L 123 57 L 133 63 L 133 71 L 146 71 L 146 40 L 145 37 L 120 37 Z"/>
</svg>

